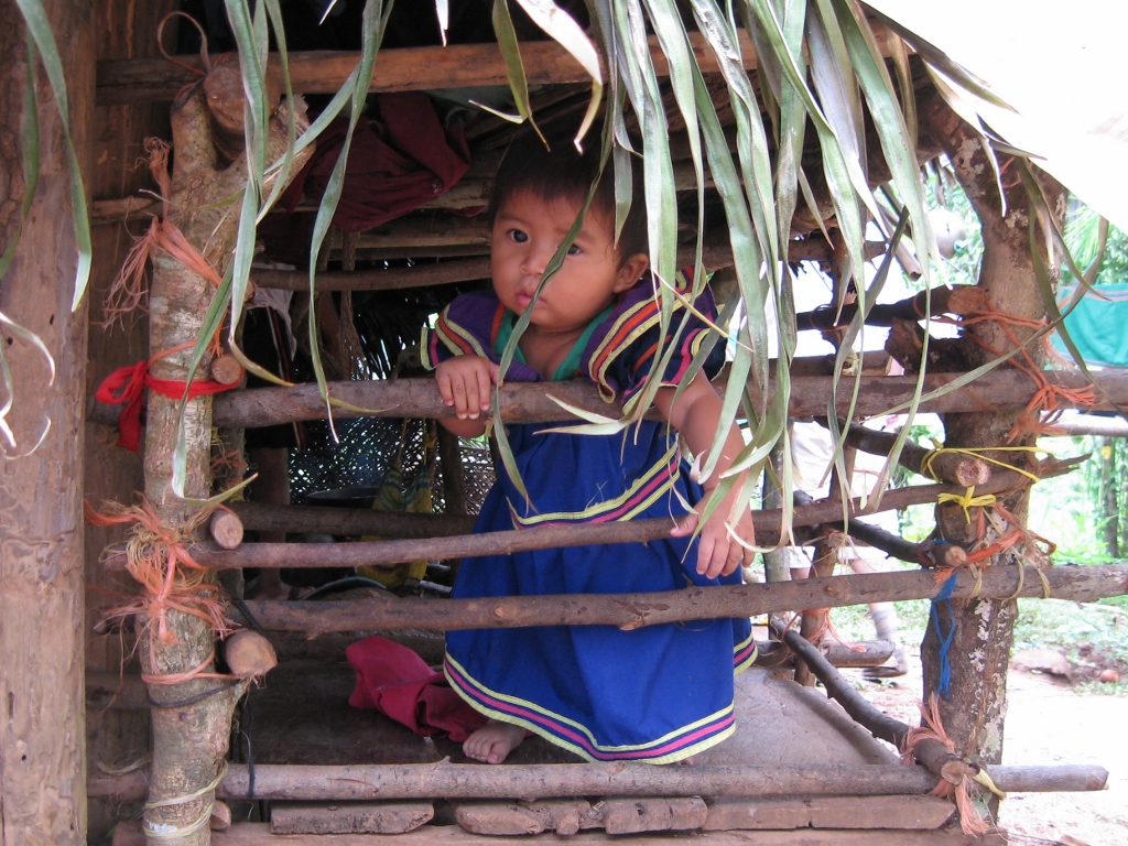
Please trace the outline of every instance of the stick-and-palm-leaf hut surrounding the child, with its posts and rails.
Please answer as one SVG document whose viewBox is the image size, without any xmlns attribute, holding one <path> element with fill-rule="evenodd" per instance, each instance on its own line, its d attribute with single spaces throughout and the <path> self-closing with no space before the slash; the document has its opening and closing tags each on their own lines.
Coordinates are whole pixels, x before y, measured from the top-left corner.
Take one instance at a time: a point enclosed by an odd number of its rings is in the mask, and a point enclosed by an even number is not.
<svg viewBox="0 0 1128 846">
<path fill-rule="evenodd" d="M 1043 369 L 1066 186 L 953 108 L 990 98 L 972 74 L 853 0 L 490 6 L 0 5 L 3 843 L 957 844 L 1002 841 L 1002 792 L 1102 788 L 1100 767 L 1001 766 L 1016 598 L 1128 593 L 1128 569 L 1054 567 L 1026 526 L 1030 486 L 1078 460 L 1038 460 L 1037 434 L 1058 409 L 1128 402 L 1120 372 Z M 655 277 L 712 273 L 731 338 L 715 384 L 747 432 L 749 496 L 763 478 L 758 543 L 814 546 L 809 578 L 766 554 L 763 583 L 448 597 L 466 557 L 626 555 L 671 528 L 473 532 L 509 447 L 437 425 L 452 411 L 416 344 L 488 287 L 508 112 L 544 131 L 602 112 L 585 143 L 608 168 L 637 153 Z M 981 222 L 973 287 L 929 283 L 920 168 L 937 161 Z M 796 315 L 803 263 L 832 296 Z M 874 305 L 895 264 L 923 291 Z M 937 316 L 959 337 L 932 337 Z M 890 327 L 884 353 L 854 351 L 863 324 Z M 801 329 L 838 353 L 794 358 Z M 514 382 L 491 416 L 614 420 L 651 399 L 625 413 L 584 380 Z M 905 409 L 938 413 L 944 448 L 861 425 Z M 793 418 L 838 444 L 826 499 L 778 472 Z M 884 490 L 885 472 L 851 499 L 860 451 L 929 484 Z M 927 541 L 866 522 L 920 503 Z M 846 536 L 922 569 L 835 575 Z M 835 668 L 891 646 L 825 638 L 830 608 L 900 599 L 934 600 L 922 726 Z M 374 633 L 433 667 L 448 631 L 754 616 L 764 669 L 740 696 L 813 722 L 757 726 L 761 748 L 738 731 L 737 751 L 693 767 L 540 741 L 486 767 L 345 704 L 345 646 Z M 836 751 L 799 751 L 828 733 Z"/>
</svg>

